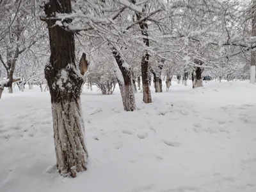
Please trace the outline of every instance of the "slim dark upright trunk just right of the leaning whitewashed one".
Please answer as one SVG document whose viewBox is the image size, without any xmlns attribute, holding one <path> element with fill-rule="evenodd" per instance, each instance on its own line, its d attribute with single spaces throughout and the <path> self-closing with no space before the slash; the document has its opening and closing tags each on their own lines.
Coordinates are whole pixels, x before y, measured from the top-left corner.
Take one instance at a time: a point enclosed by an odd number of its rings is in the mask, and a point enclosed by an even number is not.
<svg viewBox="0 0 256 192">
<path fill-rule="evenodd" d="M 133 1 L 132 3 L 135 3 Z M 141 13 L 136 13 L 137 20 L 141 20 Z M 143 38 L 144 44 L 149 47 L 149 40 L 148 40 L 148 24 L 144 20 L 143 22 L 140 22 L 140 29 L 141 34 L 145 37 Z M 145 50 L 145 53 L 143 54 L 142 60 L 141 60 L 141 77 L 142 77 L 142 87 L 143 87 L 143 101 L 144 103 L 152 103 L 151 98 L 151 92 L 150 92 L 150 80 L 148 78 L 148 60 L 149 60 L 149 54 L 148 50 Z"/>
</svg>

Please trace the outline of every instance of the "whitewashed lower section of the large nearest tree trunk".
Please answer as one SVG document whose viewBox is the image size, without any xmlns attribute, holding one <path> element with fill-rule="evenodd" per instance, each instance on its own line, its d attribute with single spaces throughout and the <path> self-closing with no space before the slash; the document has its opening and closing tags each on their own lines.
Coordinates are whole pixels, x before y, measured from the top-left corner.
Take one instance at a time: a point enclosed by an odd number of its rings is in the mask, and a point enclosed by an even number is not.
<svg viewBox="0 0 256 192">
<path fill-rule="evenodd" d="M 88 153 L 84 145 L 84 124 L 80 100 L 52 103 L 54 144 L 61 175 L 76 177 L 86 170 Z"/>
</svg>

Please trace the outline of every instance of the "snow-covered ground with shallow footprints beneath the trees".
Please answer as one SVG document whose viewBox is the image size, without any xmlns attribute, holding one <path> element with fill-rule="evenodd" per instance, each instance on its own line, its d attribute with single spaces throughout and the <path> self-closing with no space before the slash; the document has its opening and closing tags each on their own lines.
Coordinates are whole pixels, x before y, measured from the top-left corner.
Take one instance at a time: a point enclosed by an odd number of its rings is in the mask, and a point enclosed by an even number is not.
<svg viewBox="0 0 256 192">
<path fill-rule="evenodd" d="M 54 168 L 49 92 L 5 90 L 0 191 L 255 192 L 256 86 L 204 85 L 173 82 L 163 93 L 152 87 L 154 103 L 143 104 L 137 93 L 135 112 L 124 112 L 118 89 L 111 96 L 96 87 L 83 92 L 90 159 L 75 179 Z"/>
</svg>

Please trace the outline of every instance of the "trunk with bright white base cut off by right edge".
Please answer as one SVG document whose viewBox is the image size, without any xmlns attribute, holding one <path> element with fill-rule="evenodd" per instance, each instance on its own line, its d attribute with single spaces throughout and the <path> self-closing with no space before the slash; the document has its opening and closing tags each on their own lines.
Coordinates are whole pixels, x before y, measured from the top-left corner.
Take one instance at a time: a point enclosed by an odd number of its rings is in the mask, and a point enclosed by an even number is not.
<svg viewBox="0 0 256 192">
<path fill-rule="evenodd" d="M 256 38 L 256 0 L 253 1 L 253 6 L 252 6 L 252 37 Z M 250 67 L 250 83 L 255 84 L 255 69 L 256 65 L 256 52 L 255 50 L 251 51 L 251 67 Z"/>
</svg>

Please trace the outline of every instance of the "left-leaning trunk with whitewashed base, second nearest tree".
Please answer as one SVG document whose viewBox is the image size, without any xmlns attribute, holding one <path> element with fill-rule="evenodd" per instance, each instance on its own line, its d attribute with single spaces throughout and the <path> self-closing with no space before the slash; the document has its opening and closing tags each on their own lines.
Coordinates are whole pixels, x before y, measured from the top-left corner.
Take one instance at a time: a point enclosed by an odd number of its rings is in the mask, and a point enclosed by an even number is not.
<svg viewBox="0 0 256 192">
<path fill-rule="evenodd" d="M 134 111 L 136 109 L 136 103 L 132 85 L 131 69 L 127 69 L 124 66 L 124 60 L 121 58 L 120 54 L 115 48 L 112 48 L 112 54 L 114 55 L 116 63 L 118 64 L 118 67 L 124 77 L 124 84 L 122 84 L 122 80 L 118 80 L 124 110 Z"/>
</svg>

